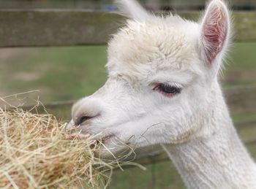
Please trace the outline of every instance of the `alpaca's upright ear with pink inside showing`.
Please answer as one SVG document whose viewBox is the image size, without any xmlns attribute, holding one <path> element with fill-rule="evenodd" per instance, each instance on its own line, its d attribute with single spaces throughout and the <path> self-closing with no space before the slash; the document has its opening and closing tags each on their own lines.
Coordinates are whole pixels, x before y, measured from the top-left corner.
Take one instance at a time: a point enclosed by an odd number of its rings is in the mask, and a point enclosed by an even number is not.
<svg viewBox="0 0 256 189">
<path fill-rule="evenodd" d="M 200 29 L 201 58 L 208 64 L 213 63 L 219 53 L 225 51 L 229 38 L 230 18 L 222 0 L 208 4 Z"/>
</svg>

